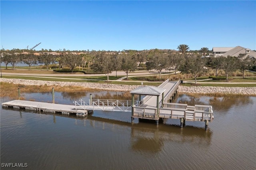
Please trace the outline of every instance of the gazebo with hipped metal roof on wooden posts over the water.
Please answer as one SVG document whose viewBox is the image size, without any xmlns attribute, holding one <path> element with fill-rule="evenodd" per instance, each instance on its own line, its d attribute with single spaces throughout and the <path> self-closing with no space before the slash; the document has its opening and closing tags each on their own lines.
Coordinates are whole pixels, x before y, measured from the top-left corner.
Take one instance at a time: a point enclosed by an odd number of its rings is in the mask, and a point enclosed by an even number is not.
<svg viewBox="0 0 256 170">
<path fill-rule="evenodd" d="M 133 89 L 132 91 L 130 91 L 130 93 L 132 94 L 132 122 L 134 121 L 134 117 L 136 118 L 140 118 L 140 119 L 151 119 L 151 120 L 156 120 L 156 124 L 158 125 L 158 120 L 159 120 L 159 96 L 162 95 L 162 105 L 164 103 L 164 91 L 166 89 L 163 88 L 159 88 L 159 87 L 153 87 L 153 86 L 146 86 L 146 87 L 138 87 L 136 89 Z M 138 107 L 136 107 L 134 105 L 134 95 L 139 95 L 139 101 L 140 101 L 140 105 Z M 141 95 L 146 95 L 146 97 L 144 97 L 141 100 Z M 137 113 L 137 109 L 156 109 L 156 113 L 153 114 L 154 116 L 150 115 L 150 113 L 145 116 L 144 115 L 136 115 L 134 113 Z"/>
</svg>

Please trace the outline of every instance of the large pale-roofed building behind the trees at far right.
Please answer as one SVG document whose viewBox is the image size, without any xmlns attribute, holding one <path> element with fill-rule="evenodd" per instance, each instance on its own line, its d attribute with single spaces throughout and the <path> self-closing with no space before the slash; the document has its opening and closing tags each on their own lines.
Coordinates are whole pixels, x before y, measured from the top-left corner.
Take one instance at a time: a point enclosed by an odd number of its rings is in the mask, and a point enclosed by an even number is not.
<svg viewBox="0 0 256 170">
<path fill-rule="evenodd" d="M 236 47 L 213 47 L 212 51 L 214 53 L 214 57 L 224 56 L 227 57 L 228 55 L 233 57 L 251 57 L 252 59 L 256 59 L 256 51 L 253 51 L 249 48 L 244 48 L 241 46 Z"/>
</svg>

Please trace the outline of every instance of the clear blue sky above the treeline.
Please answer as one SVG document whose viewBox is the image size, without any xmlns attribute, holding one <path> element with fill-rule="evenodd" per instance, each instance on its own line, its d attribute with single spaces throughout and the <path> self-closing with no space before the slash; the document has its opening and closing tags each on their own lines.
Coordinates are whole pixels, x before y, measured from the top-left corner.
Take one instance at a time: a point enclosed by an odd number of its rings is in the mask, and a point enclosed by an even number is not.
<svg viewBox="0 0 256 170">
<path fill-rule="evenodd" d="M 1 49 L 256 49 L 256 1 L 0 1 Z"/>
</svg>

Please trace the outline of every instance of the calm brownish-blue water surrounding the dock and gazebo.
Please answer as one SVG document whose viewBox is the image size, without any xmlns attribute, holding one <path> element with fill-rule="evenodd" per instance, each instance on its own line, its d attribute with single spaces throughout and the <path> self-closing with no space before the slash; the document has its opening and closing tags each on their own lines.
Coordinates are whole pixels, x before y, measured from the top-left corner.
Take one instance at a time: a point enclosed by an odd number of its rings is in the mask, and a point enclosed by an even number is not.
<svg viewBox="0 0 256 170">
<path fill-rule="evenodd" d="M 90 93 L 55 93 L 55 101 L 72 104 Z M 122 93 L 97 98 L 111 95 Z M 51 101 L 51 93 L 24 97 Z M 10 169 L 3 163 L 26 163 L 31 170 L 256 169 L 256 97 L 178 95 L 176 102 L 212 105 L 208 131 L 204 122 L 180 128 L 173 119 L 158 126 L 136 119 L 131 124 L 131 113 L 124 112 L 94 111 L 78 119 L 1 108 L 1 170 Z"/>
</svg>

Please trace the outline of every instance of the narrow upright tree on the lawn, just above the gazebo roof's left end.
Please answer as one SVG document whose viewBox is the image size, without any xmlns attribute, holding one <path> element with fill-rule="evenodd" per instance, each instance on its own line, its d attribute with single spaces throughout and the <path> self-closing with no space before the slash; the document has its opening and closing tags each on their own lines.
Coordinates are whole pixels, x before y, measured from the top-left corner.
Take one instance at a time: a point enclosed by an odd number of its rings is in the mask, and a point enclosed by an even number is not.
<svg viewBox="0 0 256 170">
<path fill-rule="evenodd" d="M 137 68 L 136 59 L 134 53 L 128 52 L 122 53 L 122 64 L 121 69 L 126 73 L 126 79 L 128 80 L 128 73 L 131 71 L 135 71 Z"/>
</svg>

